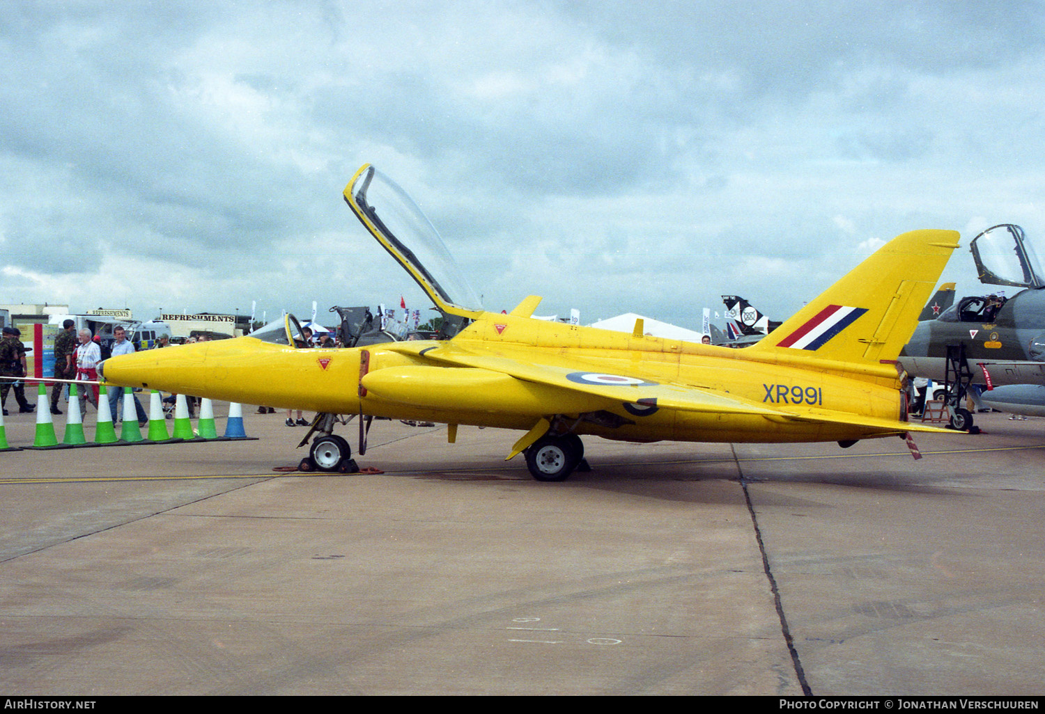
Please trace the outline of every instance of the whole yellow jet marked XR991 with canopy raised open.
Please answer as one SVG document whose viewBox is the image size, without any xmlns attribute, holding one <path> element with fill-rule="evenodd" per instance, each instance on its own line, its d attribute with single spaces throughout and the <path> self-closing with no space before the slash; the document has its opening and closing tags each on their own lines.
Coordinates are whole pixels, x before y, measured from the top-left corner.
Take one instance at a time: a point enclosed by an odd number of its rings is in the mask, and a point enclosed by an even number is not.
<svg viewBox="0 0 1045 714">
<path fill-rule="evenodd" d="M 106 360 L 107 382 L 321 412 L 310 458 L 344 470 L 335 414 L 525 432 L 534 478 L 565 479 L 580 436 L 627 442 L 838 442 L 942 431 L 907 422 L 897 357 L 951 253 L 953 231 L 914 231 L 882 246 L 746 350 L 549 323 L 540 299 L 479 307 L 442 240 L 396 184 L 363 166 L 346 187 L 356 217 L 443 315 L 442 339 L 299 349 L 287 315 L 246 337 Z M 369 425 L 368 425 L 369 426 Z M 306 437 L 307 439 L 307 437 Z M 305 442 L 302 442 L 302 445 Z"/>
</svg>

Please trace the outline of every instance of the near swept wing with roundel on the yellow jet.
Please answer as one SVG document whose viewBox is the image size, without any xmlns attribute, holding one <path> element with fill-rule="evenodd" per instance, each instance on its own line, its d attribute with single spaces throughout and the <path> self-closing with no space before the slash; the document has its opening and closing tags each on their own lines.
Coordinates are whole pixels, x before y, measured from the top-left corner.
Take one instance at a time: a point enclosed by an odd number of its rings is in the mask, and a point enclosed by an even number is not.
<svg viewBox="0 0 1045 714">
<path fill-rule="evenodd" d="M 699 386 L 658 383 L 637 373 L 620 375 L 598 372 L 596 365 L 584 364 L 576 359 L 562 360 L 562 363 L 559 364 L 536 363 L 527 359 L 516 359 L 458 346 L 431 348 L 420 352 L 420 355 L 454 366 L 497 372 L 527 382 L 536 382 L 619 401 L 624 403 L 625 408 L 629 411 L 631 409 L 628 407 L 641 410 L 646 405 L 655 405 L 661 409 L 679 411 L 752 414 L 764 416 L 770 421 L 795 420 L 845 424 L 870 428 L 884 434 L 902 431 L 945 431 L 919 423 L 905 423 L 860 414 L 828 410 L 795 412 L 767 408 L 758 402 L 722 395 L 711 389 L 702 389 Z M 542 356 L 547 360 L 548 355 Z M 585 370 L 585 366 L 591 368 Z M 632 411 L 631 413 L 637 412 Z"/>
</svg>

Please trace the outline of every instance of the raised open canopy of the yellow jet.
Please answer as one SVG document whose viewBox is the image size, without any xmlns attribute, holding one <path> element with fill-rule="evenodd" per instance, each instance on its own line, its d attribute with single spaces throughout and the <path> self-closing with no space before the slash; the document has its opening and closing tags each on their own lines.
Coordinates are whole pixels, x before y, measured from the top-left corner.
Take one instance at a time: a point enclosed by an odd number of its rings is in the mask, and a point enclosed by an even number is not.
<svg viewBox="0 0 1045 714">
<path fill-rule="evenodd" d="M 386 249 L 405 263 L 425 292 L 434 292 L 443 302 L 465 310 L 482 309 L 482 302 L 439 232 L 405 191 L 369 166 L 356 176 L 351 193 L 356 206 L 388 241 Z"/>
</svg>

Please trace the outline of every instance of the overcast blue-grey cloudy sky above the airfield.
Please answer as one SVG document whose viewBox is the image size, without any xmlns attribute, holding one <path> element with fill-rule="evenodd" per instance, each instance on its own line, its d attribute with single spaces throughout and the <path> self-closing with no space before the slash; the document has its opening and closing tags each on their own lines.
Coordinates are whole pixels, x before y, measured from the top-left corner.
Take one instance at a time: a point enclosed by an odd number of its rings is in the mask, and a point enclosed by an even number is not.
<svg viewBox="0 0 1045 714">
<path fill-rule="evenodd" d="M 991 0 L 0 0 L 0 303 L 421 307 L 342 199 L 364 163 L 487 309 L 584 323 L 783 318 L 921 228 L 1045 253 L 1043 30 Z M 948 273 L 976 291 L 967 251 Z"/>
</svg>

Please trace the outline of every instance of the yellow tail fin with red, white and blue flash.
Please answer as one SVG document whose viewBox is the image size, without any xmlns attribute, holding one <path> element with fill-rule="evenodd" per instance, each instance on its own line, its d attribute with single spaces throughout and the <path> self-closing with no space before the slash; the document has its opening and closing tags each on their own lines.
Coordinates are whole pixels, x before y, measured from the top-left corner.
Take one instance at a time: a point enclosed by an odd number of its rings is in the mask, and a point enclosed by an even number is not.
<svg viewBox="0 0 1045 714">
<path fill-rule="evenodd" d="M 956 231 L 897 236 L 750 349 L 845 362 L 896 359 L 958 238 Z"/>
</svg>

